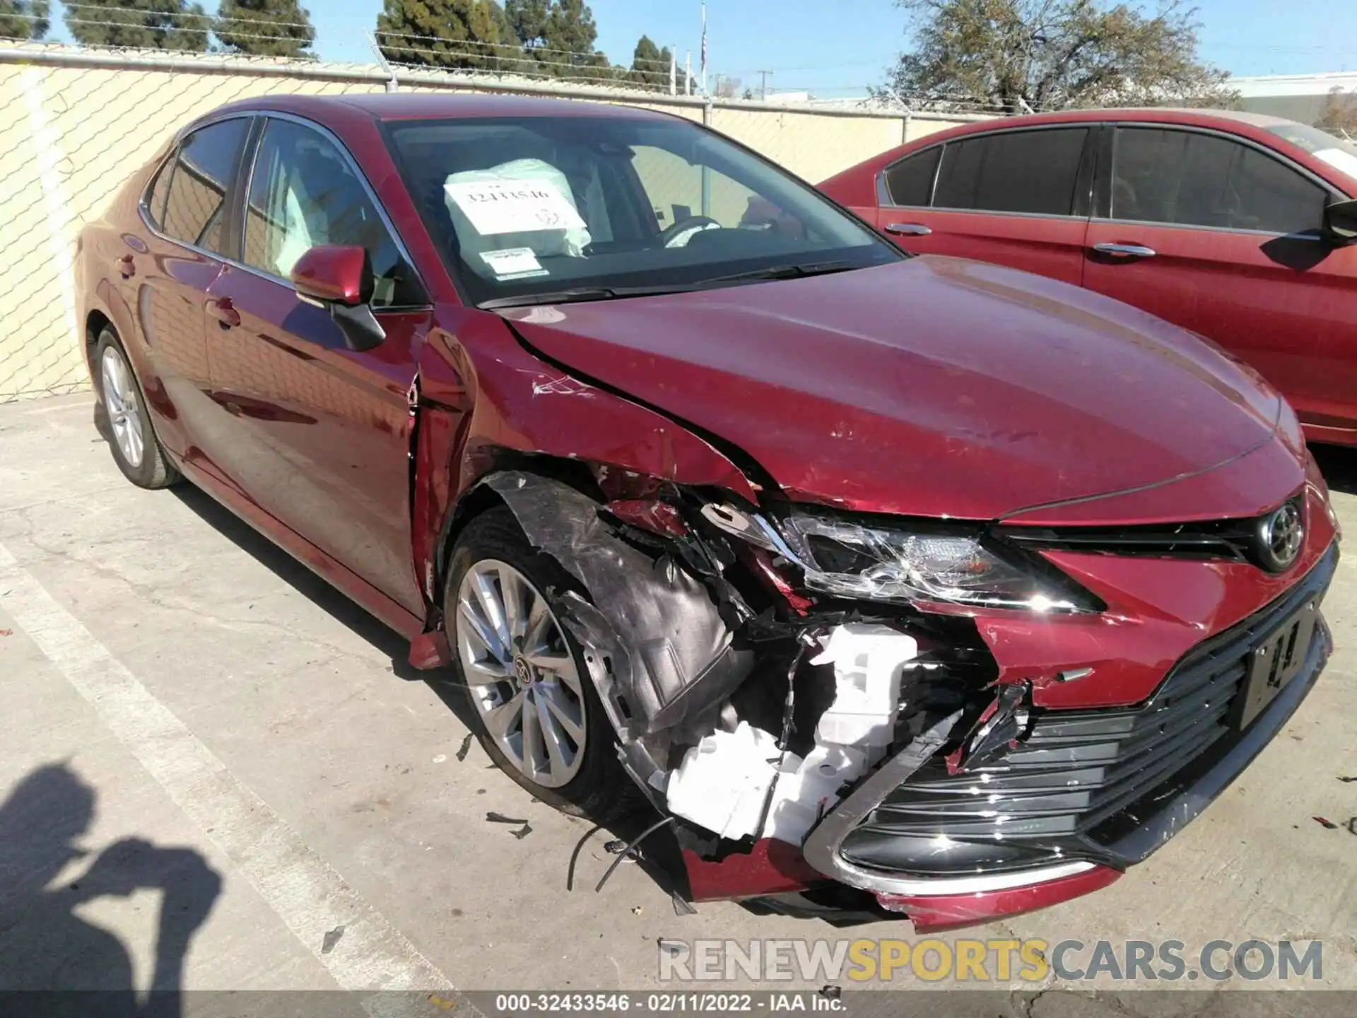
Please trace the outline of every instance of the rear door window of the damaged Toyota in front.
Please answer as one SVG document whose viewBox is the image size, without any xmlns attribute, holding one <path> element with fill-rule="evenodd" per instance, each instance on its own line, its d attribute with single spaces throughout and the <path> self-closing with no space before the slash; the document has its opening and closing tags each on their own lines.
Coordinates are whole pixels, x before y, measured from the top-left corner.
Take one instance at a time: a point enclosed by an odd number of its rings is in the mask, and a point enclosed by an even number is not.
<svg viewBox="0 0 1357 1018">
<path fill-rule="evenodd" d="M 248 117 L 236 117 L 209 124 L 183 140 L 166 198 L 161 224 L 166 233 L 206 251 L 221 252 L 227 186 L 248 128 Z"/>
</svg>

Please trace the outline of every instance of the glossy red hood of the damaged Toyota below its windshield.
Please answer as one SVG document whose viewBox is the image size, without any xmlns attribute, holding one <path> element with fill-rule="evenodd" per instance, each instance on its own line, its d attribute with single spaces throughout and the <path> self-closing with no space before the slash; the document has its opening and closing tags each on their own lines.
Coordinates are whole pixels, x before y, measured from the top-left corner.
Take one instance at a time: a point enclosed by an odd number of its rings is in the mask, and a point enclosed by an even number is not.
<svg viewBox="0 0 1357 1018">
<path fill-rule="evenodd" d="M 1159 485 L 1269 441 L 1281 406 L 1151 315 L 954 258 L 505 318 L 791 498 L 866 512 L 993 520 Z"/>
</svg>

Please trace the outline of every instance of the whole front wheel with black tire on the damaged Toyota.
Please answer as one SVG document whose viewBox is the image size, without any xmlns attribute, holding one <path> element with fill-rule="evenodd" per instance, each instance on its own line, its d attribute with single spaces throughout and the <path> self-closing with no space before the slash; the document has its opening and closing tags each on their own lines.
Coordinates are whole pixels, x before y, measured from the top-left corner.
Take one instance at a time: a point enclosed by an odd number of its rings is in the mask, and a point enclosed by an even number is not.
<svg viewBox="0 0 1357 1018">
<path fill-rule="evenodd" d="M 552 589 L 579 584 L 508 509 L 472 520 L 444 590 L 453 666 L 490 759 L 543 802 L 601 821 L 632 801 L 631 779 Z"/>
</svg>

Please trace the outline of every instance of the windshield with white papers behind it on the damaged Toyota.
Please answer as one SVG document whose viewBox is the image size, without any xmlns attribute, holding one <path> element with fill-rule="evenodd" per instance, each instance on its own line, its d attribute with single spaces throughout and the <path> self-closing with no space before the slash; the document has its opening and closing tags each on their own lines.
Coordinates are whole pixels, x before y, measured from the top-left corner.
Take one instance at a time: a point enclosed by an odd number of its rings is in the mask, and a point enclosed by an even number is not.
<svg viewBox="0 0 1357 1018">
<path fill-rule="evenodd" d="M 678 119 L 400 121 L 388 136 L 472 304 L 695 289 L 904 257 L 809 185 Z"/>
</svg>

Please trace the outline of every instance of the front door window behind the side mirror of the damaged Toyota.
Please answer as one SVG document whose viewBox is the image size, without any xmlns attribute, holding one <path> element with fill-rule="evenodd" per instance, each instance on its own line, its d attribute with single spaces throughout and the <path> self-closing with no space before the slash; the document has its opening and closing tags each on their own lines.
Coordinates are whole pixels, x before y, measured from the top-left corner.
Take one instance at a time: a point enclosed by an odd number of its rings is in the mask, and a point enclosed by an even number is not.
<svg viewBox="0 0 1357 1018">
<path fill-rule="evenodd" d="M 422 301 L 400 248 L 349 160 L 320 132 L 270 119 L 250 182 L 244 262 L 286 280 L 316 244 L 368 250 L 375 305 Z"/>
</svg>

